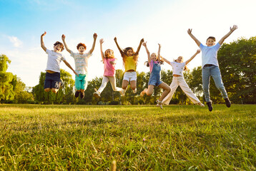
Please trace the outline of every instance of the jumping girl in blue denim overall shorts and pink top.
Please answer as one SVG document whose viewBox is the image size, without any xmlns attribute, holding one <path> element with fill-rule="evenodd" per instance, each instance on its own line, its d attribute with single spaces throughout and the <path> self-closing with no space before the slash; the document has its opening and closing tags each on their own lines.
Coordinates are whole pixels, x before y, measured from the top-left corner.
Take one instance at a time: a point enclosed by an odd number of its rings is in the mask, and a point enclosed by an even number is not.
<svg viewBox="0 0 256 171">
<path fill-rule="evenodd" d="M 152 53 L 150 56 L 149 50 L 147 49 L 147 42 L 144 42 L 142 44 L 147 51 L 147 66 L 149 66 L 150 69 L 150 77 L 149 77 L 149 86 L 148 88 L 145 88 L 141 93 L 140 96 L 142 97 L 145 93 L 147 95 L 151 96 L 154 90 L 154 86 L 158 86 L 159 88 L 163 88 L 164 92 L 162 93 L 159 100 L 157 100 L 157 106 L 162 108 L 162 100 L 168 95 L 171 88 L 169 86 L 161 81 L 161 64 L 164 62 L 160 60 L 160 48 L 161 45 L 159 45 L 158 49 L 158 55 L 156 53 Z"/>
</svg>

